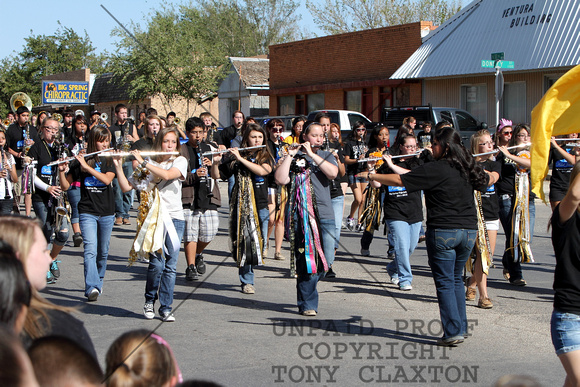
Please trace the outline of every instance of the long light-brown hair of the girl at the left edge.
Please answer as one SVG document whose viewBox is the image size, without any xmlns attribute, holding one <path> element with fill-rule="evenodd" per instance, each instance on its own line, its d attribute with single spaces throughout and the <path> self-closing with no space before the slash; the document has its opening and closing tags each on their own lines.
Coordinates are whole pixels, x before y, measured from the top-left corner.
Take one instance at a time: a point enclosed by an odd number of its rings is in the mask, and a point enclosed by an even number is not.
<svg viewBox="0 0 580 387">
<path fill-rule="evenodd" d="M 20 215 L 0 216 L 0 238 L 12 246 L 24 267 L 26 267 L 26 261 L 34 243 L 36 227 L 40 230 L 40 223 L 32 218 Z M 42 337 L 45 332 L 50 330 L 50 319 L 46 310 L 60 310 L 67 313 L 76 310 L 47 301 L 34 287 L 31 287 L 30 290 L 32 291 L 32 299 L 24 322 L 24 332 L 33 339 Z"/>
</svg>

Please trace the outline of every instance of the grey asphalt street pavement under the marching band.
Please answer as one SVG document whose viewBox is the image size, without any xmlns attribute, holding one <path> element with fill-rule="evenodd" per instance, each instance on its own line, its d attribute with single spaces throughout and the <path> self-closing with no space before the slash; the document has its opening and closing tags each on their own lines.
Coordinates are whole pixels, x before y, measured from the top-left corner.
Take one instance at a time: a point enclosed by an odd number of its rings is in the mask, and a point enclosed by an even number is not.
<svg viewBox="0 0 580 387">
<path fill-rule="evenodd" d="M 227 184 L 220 188 L 225 203 Z M 352 195 L 346 201 L 348 209 Z M 219 212 L 219 233 L 206 250 L 208 269 L 199 281 L 185 280 L 181 252 L 173 304 L 176 322 L 143 317 L 147 265 L 127 266 L 134 210 L 131 226 L 113 230 L 98 301 L 89 303 L 83 296 L 82 248 L 72 247 L 72 242 L 60 255 L 61 278 L 43 293 L 55 303 L 78 307 L 77 316 L 103 367 L 116 337 L 148 329 L 172 346 L 186 380 L 223 386 L 490 386 L 508 374 L 529 375 L 544 386 L 564 382 L 550 339 L 555 265 L 547 230 L 551 211 L 539 200 L 532 243 L 536 262 L 523 268 L 528 285 L 514 287 L 503 279 L 505 238 L 500 230 L 497 266 L 490 269 L 488 280 L 494 306 L 483 310 L 467 302 L 469 337 L 453 348 L 435 345 L 442 333 L 424 243 L 411 257 L 413 290 L 403 292 L 389 282 L 382 229 L 375 234 L 370 257 L 360 255 L 361 234 L 343 230 L 333 266 L 337 278 L 319 283 L 318 316 L 309 318 L 297 313 L 288 242 L 283 245 L 286 260 L 266 259 L 255 271 L 256 293 L 241 293 L 229 254 L 229 209 Z M 273 248 L 268 258 L 272 256 Z"/>
</svg>

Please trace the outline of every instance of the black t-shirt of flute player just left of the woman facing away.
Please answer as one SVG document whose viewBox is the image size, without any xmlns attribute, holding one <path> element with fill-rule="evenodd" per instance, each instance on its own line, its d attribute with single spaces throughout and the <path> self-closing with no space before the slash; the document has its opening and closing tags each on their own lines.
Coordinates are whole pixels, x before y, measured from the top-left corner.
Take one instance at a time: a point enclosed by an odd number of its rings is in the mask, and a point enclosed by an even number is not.
<svg viewBox="0 0 580 387">
<path fill-rule="evenodd" d="M 416 157 L 406 161 L 397 159 L 393 161 L 397 166 L 409 170 L 413 170 L 423 164 L 423 161 Z M 386 163 L 383 165 L 385 168 L 381 168 L 379 170 L 380 173 L 393 173 Z M 407 192 L 405 187 L 397 186 L 386 186 L 385 191 L 385 219 L 402 220 L 409 224 L 423 220 L 421 191 Z"/>
</svg>

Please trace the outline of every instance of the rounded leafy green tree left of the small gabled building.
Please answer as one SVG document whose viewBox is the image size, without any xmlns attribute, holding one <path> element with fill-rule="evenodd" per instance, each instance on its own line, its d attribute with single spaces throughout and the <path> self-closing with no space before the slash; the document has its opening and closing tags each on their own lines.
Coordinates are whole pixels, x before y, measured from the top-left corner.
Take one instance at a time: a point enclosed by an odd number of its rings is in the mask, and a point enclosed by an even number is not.
<svg viewBox="0 0 580 387">
<path fill-rule="evenodd" d="M 115 82 L 134 100 L 160 96 L 200 101 L 217 90 L 225 56 L 208 45 L 192 23 L 172 7 L 155 11 L 146 30 L 116 29 L 120 54 L 111 59 Z"/>
</svg>

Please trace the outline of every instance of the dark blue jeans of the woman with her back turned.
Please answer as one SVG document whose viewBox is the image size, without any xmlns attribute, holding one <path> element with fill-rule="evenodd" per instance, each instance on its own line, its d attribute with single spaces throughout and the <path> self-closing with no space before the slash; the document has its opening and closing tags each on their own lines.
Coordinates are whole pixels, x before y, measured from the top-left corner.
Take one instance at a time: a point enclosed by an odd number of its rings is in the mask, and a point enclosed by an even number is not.
<svg viewBox="0 0 580 387">
<path fill-rule="evenodd" d="M 463 268 L 477 230 L 427 228 L 427 256 L 437 290 L 443 339 L 463 338 L 467 332 Z"/>
</svg>

